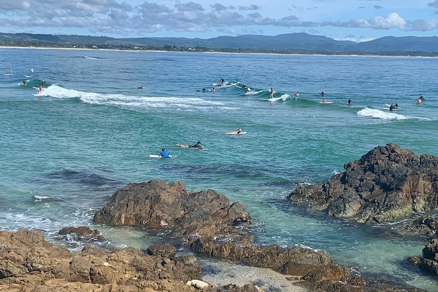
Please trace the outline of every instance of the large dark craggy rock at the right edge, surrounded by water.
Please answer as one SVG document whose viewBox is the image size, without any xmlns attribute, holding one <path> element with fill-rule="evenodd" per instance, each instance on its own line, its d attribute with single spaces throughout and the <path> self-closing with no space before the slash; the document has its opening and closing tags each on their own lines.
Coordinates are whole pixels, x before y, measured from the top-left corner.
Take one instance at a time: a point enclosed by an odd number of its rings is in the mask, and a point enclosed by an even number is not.
<svg viewBox="0 0 438 292">
<path fill-rule="evenodd" d="M 438 157 L 379 146 L 322 185 L 300 185 L 291 202 L 358 222 L 386 222 L 438 207 Z"/>
</svg>

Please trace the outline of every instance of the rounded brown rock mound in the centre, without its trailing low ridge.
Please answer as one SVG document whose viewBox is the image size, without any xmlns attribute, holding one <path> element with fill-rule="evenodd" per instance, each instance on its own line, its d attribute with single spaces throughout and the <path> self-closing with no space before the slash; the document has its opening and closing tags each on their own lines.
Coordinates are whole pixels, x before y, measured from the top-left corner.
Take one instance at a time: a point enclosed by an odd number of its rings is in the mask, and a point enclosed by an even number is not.
<svg viewBox="0 0 438 292">
<path fill-rule="evenodd" d="M 116 190 L 93 221 L 166 229 L 171 237 L 212 238 L 221 233 L 244 236 L 232 226 L 251 222 L 251 217 L 242 203 L 230 205 L 227 197 L 212 189 L 187 192 L 182 182 L 150 180 Z"/>
</svg>

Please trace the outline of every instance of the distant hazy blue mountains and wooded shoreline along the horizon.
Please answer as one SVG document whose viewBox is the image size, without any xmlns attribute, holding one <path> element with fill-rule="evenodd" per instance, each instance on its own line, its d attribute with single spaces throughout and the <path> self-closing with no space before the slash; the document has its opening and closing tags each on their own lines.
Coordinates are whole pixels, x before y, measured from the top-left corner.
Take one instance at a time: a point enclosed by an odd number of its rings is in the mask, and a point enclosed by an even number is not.
<svg viewBox="0 0 438 292">
<path fill-rule="evenodd" d="M 325 36 L 306 33 L 277 36 L 242 35 L 211 39 L 188 38 L 110 38 L 77 35 L 2 34 L 2 46 L 91 46 L 96 48 L 135 47 L 174 50 L 239 50 L 265 52 L 326 53 L 408 53 L 424 52 L 438 55 L 438 37 L 383 37 L 368 42 L 336 41 Z"/>
</svg>

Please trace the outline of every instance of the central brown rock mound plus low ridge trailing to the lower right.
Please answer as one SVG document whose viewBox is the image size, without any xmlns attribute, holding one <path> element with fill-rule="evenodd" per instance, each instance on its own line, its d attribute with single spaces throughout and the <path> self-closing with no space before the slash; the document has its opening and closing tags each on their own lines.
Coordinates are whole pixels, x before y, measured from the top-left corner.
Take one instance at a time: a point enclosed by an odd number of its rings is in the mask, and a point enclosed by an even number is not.
<svg viewBox="0 0 438 292">
<path fill-rule="evenodd" d="M 351 278 L 349 269 L 335 263 L 326 252 L 301 247 L 259 246 L 239 228 L 250 220 L 245 206 L 238 202 L 230 205 L 223 194 L 211 189 L 187 192 L 181 182 L 166 184 L 162 180 L 130 183 L 115 191 L 94 218 L 96 223 L 160 229 L 162 234 L 179 238 L 197 253 L 271 268 L 306 279 L 312 289 L 363 290 L 356 286 L 367 282 L 360 277 Z M 162 249 L 152 247 L 148 253 L 161 254 Z M 257 287 L 246 286 L 236 291 L 255 289 Z"/>
</svg>

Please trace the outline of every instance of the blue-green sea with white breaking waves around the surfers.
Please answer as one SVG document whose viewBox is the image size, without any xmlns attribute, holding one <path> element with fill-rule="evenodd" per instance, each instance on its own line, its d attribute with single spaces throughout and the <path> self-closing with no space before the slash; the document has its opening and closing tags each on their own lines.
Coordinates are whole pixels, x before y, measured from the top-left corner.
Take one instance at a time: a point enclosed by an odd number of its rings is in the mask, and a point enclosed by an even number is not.
<svg viewBox="0 0 438 292">
<path fill-rule="evenodd" d="M 243 202 L 258 241 L 325 250 L 363 276 L 438 290 L 406 260 L 427 242 L 286 199 L 379 145 L 438 155 L 438 58 L 1 48 L 0 64 L 2 230 L 41 230 L 76 251 L 57 232 L 87 225 L 106 244 L 144 249 L 160 235 L 95 225 L 93 215 L 129 182 L 181 180 Z M 264 100 L 270 87 L 274 101 Z M 399 111 L 384 109 L 394 103 Z M 247 134 L 225 134 L 238 127 Z M 197 141 L 207 150 L 175 145 Z M 148 156 L 163 147 L 178 156 Z"/>
</svg>

